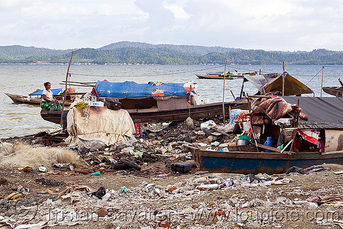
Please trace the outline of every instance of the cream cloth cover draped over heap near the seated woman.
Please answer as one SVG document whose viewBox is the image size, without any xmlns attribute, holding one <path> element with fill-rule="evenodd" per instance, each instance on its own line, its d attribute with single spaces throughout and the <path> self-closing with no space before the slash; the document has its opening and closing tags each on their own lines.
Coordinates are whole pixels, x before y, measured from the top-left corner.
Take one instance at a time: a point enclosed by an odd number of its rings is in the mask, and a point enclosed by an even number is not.
<svg viewBox="0 0 343 229">
<path fill-rule="evenodd" d="M 116 142 L 134 141 L 134 123 L 128 111 L 117 111 L 107 107 L 73 107 L 67 115 L 65 140 L 69 146 L 86 147 L 95 150 Z"/>
</svg>

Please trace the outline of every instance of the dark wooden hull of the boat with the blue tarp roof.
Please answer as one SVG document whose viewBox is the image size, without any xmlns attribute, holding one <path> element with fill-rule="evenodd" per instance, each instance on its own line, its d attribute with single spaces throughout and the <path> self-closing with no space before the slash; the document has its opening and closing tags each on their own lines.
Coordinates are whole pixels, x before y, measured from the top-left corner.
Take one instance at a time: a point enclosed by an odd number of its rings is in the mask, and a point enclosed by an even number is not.
<svg viewBox="0 0 343 229">
<path fill-rule="evenodd" d="M 228 114 L 229 107 L 246 109 L 246 102 L 244 100 L 239 102 L 225 102 L 225 113 Z M 171 122 L 171 121 L 184 121 L 188 117 L 193 119 L 200 118 L 213 118 L 223 113 L 222 102 L 216 102 L 204 105 L 193 105 L 184 109 L 167 109 L 158 110 L 157 108 L 151 109 L 127 109 L 134 123 L 154 123 L 154 122 Z M 67 120 L 68 110 L 64 111 L 63 120 Z M 61 111 L 47 111 L 42 109 L 40 116 L 49 122 L 60 124 Z"/>
</svg>

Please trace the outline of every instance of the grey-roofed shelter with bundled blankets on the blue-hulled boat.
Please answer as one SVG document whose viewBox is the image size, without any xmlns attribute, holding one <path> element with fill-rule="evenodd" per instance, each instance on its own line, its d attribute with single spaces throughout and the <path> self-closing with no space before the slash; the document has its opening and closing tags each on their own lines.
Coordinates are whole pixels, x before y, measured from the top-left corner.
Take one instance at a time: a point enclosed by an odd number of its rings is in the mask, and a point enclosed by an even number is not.
<svg viewBox="0 0 343 229">
<path fill-rule="evenodd" d="M 256 125 L 256 134 L 261 133 L 264 138 L 271 136 L 276 141 L 286 130 L 286 138 L 288 134 L 296 141 L 294 135 L 297 132 L 314 146 L 321 140 L 325 145 L 324 152 L 343 151 L 343 98 L 272 97 L 252 102 L 252 110 L 255 111 L 252 123 Z M 266 118 L 272 122 L 267 124 Z M 288 133 L 287 129 L 290 130 Z"/>
</svg>

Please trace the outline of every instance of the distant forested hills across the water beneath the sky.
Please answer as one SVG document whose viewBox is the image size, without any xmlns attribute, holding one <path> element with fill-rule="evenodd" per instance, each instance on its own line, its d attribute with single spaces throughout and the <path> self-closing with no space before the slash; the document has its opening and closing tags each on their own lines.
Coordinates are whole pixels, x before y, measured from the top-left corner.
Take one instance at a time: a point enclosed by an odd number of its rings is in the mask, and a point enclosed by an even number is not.
<svg viewBox="0 0 343 229">
<path fill-rule="evenodd" d="M 152 45 L 149 43 L 121 41 L 98 49 L 50 50 L 21 45 L 0 46 L 0 63 L 73 63 L 93 64 L 251 64 L 279 65 L 343 65 L 343 52 L 312 50 L 311 52 L 281 52 L 265 50 L 242 50 L 228 47 L 205 47 L 198 45 Z"/>
</svg>

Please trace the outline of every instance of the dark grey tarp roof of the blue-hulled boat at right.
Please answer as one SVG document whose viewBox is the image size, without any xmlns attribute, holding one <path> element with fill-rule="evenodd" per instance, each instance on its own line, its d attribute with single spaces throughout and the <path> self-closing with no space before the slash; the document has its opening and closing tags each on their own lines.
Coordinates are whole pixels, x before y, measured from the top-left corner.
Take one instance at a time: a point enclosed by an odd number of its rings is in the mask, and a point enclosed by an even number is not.
<svg viewBox="0 0 343 229">
<path fill-rule="evenodd" d="M 287 102 L 298 104 L 309 119 L 299 120 L 299 129 L 343 129 L 342 97 L 283 96 Z"/>
</svg>

